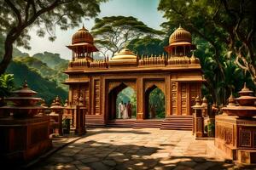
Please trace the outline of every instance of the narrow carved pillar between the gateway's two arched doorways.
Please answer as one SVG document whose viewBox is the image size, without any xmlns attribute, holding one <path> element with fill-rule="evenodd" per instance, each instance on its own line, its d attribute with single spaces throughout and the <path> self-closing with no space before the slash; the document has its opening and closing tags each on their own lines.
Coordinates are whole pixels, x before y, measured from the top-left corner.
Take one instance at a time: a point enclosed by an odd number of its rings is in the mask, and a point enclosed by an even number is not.
<svg viewBox="0 0 256 170">
<path fill-rule="evenodd" d="M 143 78 L 137 78 L 137 119 L 144 118 L 144 108 L 145 108 L 145 101 L 144 101 L 144 86 L 143 86 Z"/>
</svg>

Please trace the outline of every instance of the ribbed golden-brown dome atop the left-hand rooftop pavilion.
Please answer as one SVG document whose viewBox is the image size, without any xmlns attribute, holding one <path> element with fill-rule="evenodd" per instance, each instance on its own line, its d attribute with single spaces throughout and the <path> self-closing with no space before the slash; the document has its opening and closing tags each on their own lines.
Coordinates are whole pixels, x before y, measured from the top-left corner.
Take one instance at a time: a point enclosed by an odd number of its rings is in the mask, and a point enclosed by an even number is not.
<svg viewBox="0 0 256 170">
<path fill-rule="evenodd" d="M 74 33 L 72 37 L 72 44 L 81 42 L 93 44 L 93 37 L 90 35 L 90 32 L 84 28 L 84 26 Z"/>
</svg>

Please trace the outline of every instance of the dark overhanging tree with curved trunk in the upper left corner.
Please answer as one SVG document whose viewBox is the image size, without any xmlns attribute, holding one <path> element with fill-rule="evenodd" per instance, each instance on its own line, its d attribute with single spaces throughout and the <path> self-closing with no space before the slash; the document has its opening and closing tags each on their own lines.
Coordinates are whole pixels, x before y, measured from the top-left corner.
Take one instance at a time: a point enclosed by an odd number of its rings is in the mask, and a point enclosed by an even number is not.
<svg viewBox="0 0 256 170">
<path fill-rule="evenodd" d="M 0 34 L 5 36 L 2 74 L 12 59 L 13 44 L 29 47 L 29 29 L 37 26 L 38 36 L 49 33 L 55 40 L 55 26 L 61 30 L 79 26 L 83 17 L 95 17 L 99 3 L 106 0 L 0 0 Z"/>
</svg>

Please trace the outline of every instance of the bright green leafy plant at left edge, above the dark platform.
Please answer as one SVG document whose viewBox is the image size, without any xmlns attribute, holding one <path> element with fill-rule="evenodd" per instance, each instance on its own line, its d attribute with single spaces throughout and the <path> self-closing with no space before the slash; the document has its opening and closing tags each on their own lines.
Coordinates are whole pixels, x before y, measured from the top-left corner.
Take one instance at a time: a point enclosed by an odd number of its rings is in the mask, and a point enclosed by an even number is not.
<svg viewBox="0 0 256 170">
<path fill-rule="evenodd" d="M 14 75 L 3 74 L 0 76 L 0 98 L 9 96 L 14 87 Z"/>
</svg>

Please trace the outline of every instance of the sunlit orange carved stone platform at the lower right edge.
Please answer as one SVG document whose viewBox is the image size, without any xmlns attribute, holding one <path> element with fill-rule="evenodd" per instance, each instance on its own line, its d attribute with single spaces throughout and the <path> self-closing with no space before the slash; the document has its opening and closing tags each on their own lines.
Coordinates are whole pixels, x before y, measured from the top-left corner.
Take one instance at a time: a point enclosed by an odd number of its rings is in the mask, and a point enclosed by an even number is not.
<svg viewBox="0 0 256 170">
<path fill-rule="evenodd" d="M 250 159 L 251 156 L 252 158 L 253 155 L 255 156 L 256 118 L 219 115 L 215 117 L 215 120 L 215 145 L 220 150 L 224 150 L 232 160 L 238 160 L 243 163 L 256 163 L 255 158 Z"/>
</svg>

